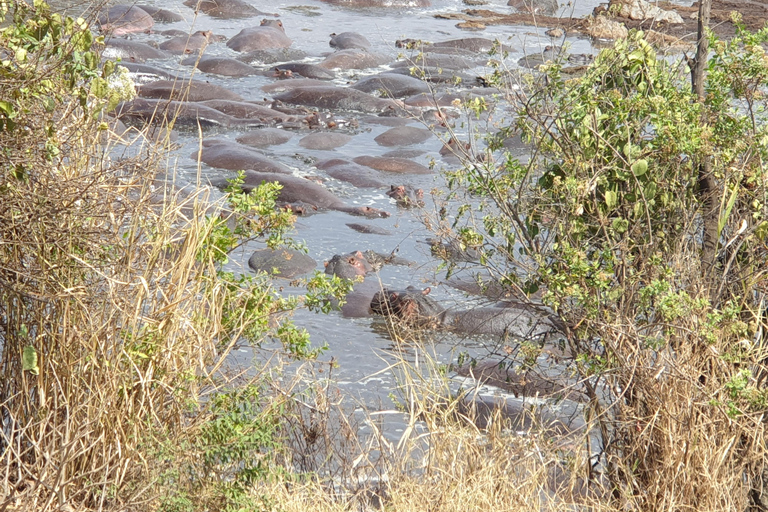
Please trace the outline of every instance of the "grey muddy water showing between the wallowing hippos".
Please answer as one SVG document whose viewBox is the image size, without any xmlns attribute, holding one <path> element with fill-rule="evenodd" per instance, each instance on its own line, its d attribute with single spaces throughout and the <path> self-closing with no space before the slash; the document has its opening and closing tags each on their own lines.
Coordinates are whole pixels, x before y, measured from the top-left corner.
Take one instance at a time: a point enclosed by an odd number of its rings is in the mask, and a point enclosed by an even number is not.
<svg viewBox="0 0 768 512">
<path fill-rule="evenodd" d="M 222 20 L 204 14 L 195 15 L 193 10 L 182 5 L 181 0 L 148 0 L 147 3 L 171 10 L 181 14 L 185 21 L 172 24 L 157 24 L 155 30 L 179 29 L 185 32 L 196 30 L 211 30 L 215 34 L 221 34 L 230 38 L 242 28 L 250 27 L 261 20 L 262 16 L 250 19 Z M 544 34 L 547 27 L 515 27 L 515 26 L 491 26 L 481 32 L 466 32 L 455 27 L 455 21 L 436 19 L 434 14 L 438 12 L 460 11 L 466 6 L 457 0 L 435 0 L 429 8 L 401 8 L 401 9 L 347 9 L 330 6 L 328 4 L 301 0 L 299 2 L 276 1 L 264 2 L 252 0 L 258 9 L 265 12 L 279 14 L 285 31 L 293 39 L 293 48 L 299 48 L 307 53 L 307 62 L 319 62 L 322 56 L 331 51 L 328 46 L 329 34 L 345 31 L 359 32 L 365 35 L 372 43 L 372 51 L 390 55 L 393 60 L 402 52 L 395 48 L 394 42 L 399 38 L 417 38 L 428 41 L 441 41 L 461 37 L 485 37 L 498 38 L 504 44 L 512 48 L 509 63 L 515 67 L 515 62 L 524 54 L 532 54 L 541 51 L 545 46 L 553 44 L 553 40 Z M 596 0 L 573 0 L 568 6 L 561 8 L 561 14 L 569 16 L 583 16 L 592 11 L 598 5 Z M 506 7 L 506 1 L 490 0 L 487 8 L 501 12 L 511 12 Z M 77 7 L 71 9 L 77 10 Z M 74 13 L 73 11 L 70 11 Z M 139 41 L 163 42 L 167 38 L 158 34 L 139 34 L 130 36 Z M 593 53 L 594 50 L 586 39 L 569 38 L 573 53 Z M 560 44 L 558 40 L 556 43 Z M 223 43 L 213 43 L 207 50 L 207 55 L 219 55 L 237 57 L 238 54 Z M 190 68 L 181 66 L 181 57 L 154 61 L 150 64 L 164 68 L 177 74 L 189 75 Z M 354 81 L 364 74 L 371 74 L 386 69 L 337 72 L 335 82 L 343 85 Z M 472 76 L 482 75 L 490 70 L 485 66 L 468 71 Z M 249 100 L 269 98 L 268 94 L 261 91 L 263 85 L 272 83 L 273 79 L 265 76 L 251 76 L 247 78 L 225 78 L 216 75 L 207 75 L 197 72 L 197 79 L 222 85 Z M 348 114 L 343 114 L 349 116 Z M 351 117 L 364 118 L 358 114 Z M 414 121 L 414 126 L 419 124 Z M 462 130 L 462 120 L 457 120 L 457 129 Z M 346 201 L 356 205 L 371 205 L 385 209 L 392 213 L 387 219 L 361 219 L 340 212 L 323 212 L 311 217 L 299 218 L 296 223 L 295 238 L 306 243 L 309 255 L 318 262 L 318 269 L 322 269 L 322 262 L 328 260 L 336 253 L 346 253 L 352 250 L 375 250 L 389 253 L 397 251 L 399 256 L 413 260 L 411 267 L 386 266 L 378 276 L 383 285 L 402 288 L 408 285 L 417 287 L 431 286 L 433 294 L 445 301 L 446 305 L 456 304 L 460 307 L 471 306 L 474 299 L 466 297 L 441 284 L 441 273 L 438 269 L 438 261 L 429 251 L 428 245 L 423 241 L 430 236 L 422 222 L 425 215 L 434 215 L 434 202 L 430 198 L 429 191 L 444 190 L 445 185 L 439 173 L 426 176 L 386 176 L 382 173 L 382 180 L 394 184 L 410 183 L 421 187 L 425 191 L 426 206 L 424 210 L 398 209 L 385 190 L 356 189 L 348 184 L 327 179 L 322 171 L 313 167 L 314 161 L 327 158 L 344 158 L 351 160 L 361 155 L 378 156 L 398 148 L 386 148 L 379 146 L 374 138 L 387 130 L 388 127 L 361 121 L 359 129 L 349 133 L 354 134 L 352 140 L 346 145 L 332 151 L 310 151 L 299 145 L 301 137 L 308 132 L 295 133 L 293 138 L 280 146 L 272 146 L 264 153 L 291 167 L 299 175 L 317 175 L 326 179 L 325 185 L 343 197 Z M 242 135 L 243 131 L 218 131 L 208 132 L 204 137 L 223 138 L 234 140 Z M 199 145 L 197 134 L 182 132 L 179 137 L 180 148 L 175 151 L 176 167 L 178 169 L 177 183 L 196 184 L 197 164 L 190 157 L 194 149 Z M 408 146 L 404 149 L 415 149 L 423 152 L 413 160 L 428 165 L 432 160 L 437 162 L 437 168 L 450 169 L 450 164 L 444 163 L 438 151 L 442 143 L 435 137 L 426 142 Z M 203 184 L 208 179 L 220 176 L 230 176 L 231 173 L 202 165 Z M 346 226 L 351 222 L 365 222 L 386 228 L 393 234 L 391 236 L 361 234 Z M 232 257 L 234 270 L 250 272 L 247 266 L 248 257 L 258 245 L 242 248 Z M 370 279 L 370 278 L 369 278 Z M 287 286 L 285 283 L 278 283 Z M 287 288 L 290 290 L 289 288 Z M 352 400 L 374 410 L 393 409 L 390 394 L 395 390 L 396 377 L 387 368 L 400 357 L 415 361 L 416 350 L 413 346 L 402 345 L 393 342 L 386 331 L 384 322 L 376 318 L 347 319 L 339 313 L 330 315 L 317 315 L 307 311 L 300 311 L 295 316 L 295 322 L 309 330 L 315 345 L 327 344 L 328 350 L 322 356 L 323 361 L 334 360 L 338 368 L 333 375 L 338 380 L 339 387 Z M 489 339 L 463 339 L 447 333 L 435 333 L 432 337 L 430 351 L 443 363 L 456 360 L 462 352 L 475 356 L 485 356 L 488 353 L 501 353 L 498 343 Z M 248 366 L 254 357 L 248 349 L 242 349 L 238 353 L 238 363 Z M 492 390 L 489 392 L 493 392 Z M 404 428 L 401 415 L 386 415 L 387 432 L 392 437 L 397 437 Z"/>
</svg>

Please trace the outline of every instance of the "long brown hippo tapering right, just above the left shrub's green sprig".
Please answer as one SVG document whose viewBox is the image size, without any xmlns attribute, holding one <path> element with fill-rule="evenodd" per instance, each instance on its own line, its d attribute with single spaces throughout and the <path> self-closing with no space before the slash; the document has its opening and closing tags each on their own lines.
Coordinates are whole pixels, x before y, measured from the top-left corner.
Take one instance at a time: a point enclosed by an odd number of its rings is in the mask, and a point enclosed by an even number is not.
<svg viewBox="0 0 768 512">
<path fill-rule="evenodd" d="M 326 188 L 313 181 L 296 176 L 245 171 L 243 190 L 250 192 L 262 182 L 269 181 L 276 181 L 283 186 L 280 190 L 278 200 L 286 203 L 303 202 L 320 210 L 337 210 L 351 215 L 361 215 L 364 217 L 389 217 L 389 213 L 383 210 L 378 210 L 369 206 L 347 205 Z"/>
</svg>

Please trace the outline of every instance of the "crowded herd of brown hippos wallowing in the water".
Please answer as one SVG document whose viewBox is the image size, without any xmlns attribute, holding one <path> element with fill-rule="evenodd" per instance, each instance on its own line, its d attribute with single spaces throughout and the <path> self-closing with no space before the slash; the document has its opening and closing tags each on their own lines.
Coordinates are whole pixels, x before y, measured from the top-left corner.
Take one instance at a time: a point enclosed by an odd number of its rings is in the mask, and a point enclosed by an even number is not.
<svg viewBox="0 0 768 512">
<path fill-rule="evenodd" d="M 138 94 L 119 105 L 115 125 L 202 130 L 202 141 L 188 155 L 193 161 L 220 171 L 244 171 L 242 187 L 247 192 L 263 182 L 280 183 L 278 204 L 297 215 L 338 211 L 369 219 L 390 216 L 384 209 L 342 199 L 325 186 L 326 180 L 380 190 L 398 208 L 423 206 L 423 190 L 408 181 L 433 171 L 413 160 L 423 153 L 413 148 L 434 139 L 434 131 L 445 130 L 451 122 L 446 107 L 467 97 L 498 92 L 467 74 L 487 60 L 495 44 L 490 39 L 393 40 L 392 48 L 413 51 L 411 59 L 396 60 L 373 51 L 362 34 L 334 32 L 329 36 L 329 51 L 312 56 L 294 47 L 291 27 L 242 0 L 187 0 L 184 5 L 212 17 L 254 22 L 225 38 L 210 30 L 158 30 L 158 24 L 178 21 L 180 15 L 147 5 L 107 9 L 98 18 L 99 30 L 108 34 L 104 56 L 120 60 L 137 84 Z M 132 38 L 138 34 L 141 37 Z M 146 34 L 158 37 L 147 41 Z M 164 69 L 164 62 L 180 62 L 190 73 L 196 69 L 224 85 L 180 76 Z M 267 82 L 250 96 L 221 81 L 250 77 L 258 77 L 260 85 Z M 433 130 L 424 128 L 426 122 Z M 311 169 L 309 164 L 300 165 L 299 172 L 265 152 L 297 136 L 301 136 L 298 145 L 307 151 L 333 151 L 351 144 L 358 132 L 372 126 L 386 128 L 374 141 L 389 152 L 320 159 L 311 162 Z M 440 155 L 453 157 L 450 143 L 441 146 Z M 302 176 L 307 170 L 313 179 Z M 211 184 L 227 186 L 222 175 L 214 175 Z M 389 233 L 374 224 L 347 226 L 366 234 Z M 462 254 L 472 260 L 471 253 Z M 552 322 L 522 307 L 446 309 L 428 295 L 429 289 L 382 290 L 378 282 L 364 279 L 382 264 L 408 263 L 357 251 L 331 258 L 326 273 L 362 280 L 341 306 L 342 315 L 378 314 L 409 325 L 493 336 L 531 338 L 556 330 Z M 311 258 L 289 250 L 256 251 L 249 264 L 257 270 L 279 269 L 279 277 L 285 278 L 315 267 Z"/>
</svg>

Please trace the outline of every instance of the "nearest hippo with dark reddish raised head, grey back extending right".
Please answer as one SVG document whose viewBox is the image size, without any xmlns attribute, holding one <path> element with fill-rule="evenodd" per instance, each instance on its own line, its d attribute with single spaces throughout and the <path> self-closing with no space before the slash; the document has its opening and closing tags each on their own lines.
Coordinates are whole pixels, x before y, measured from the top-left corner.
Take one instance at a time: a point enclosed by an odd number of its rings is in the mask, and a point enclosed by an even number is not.
<svg viewBox="0 0 768 512">
<path fill-rule="evenodd" d="M 430 289 L 384 289 L 371 300 L 371 311 L 377 315 L 405 322 L 409 326 L 443 327 L 464 334 L 513 336 L 533 339 L 546 336 L 556 329 L 554 323 L 533 306 L 478 307 L 468 310 L 445 309 L 429 297 Z"/>
</svg>

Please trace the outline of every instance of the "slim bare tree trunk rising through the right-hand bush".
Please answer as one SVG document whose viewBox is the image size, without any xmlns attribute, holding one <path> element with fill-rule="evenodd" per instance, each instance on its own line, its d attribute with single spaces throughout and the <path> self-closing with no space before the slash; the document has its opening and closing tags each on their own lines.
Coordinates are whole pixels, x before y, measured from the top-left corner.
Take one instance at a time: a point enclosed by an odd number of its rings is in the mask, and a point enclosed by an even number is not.
<svg viewBox="0 0 768 512">
<path fill-rule="evenodd" d="M 706 29 L 709 27 L 709 13 L 712 9 L 712 0 L 699 0 L 699 37 L 696 44 L 696 58 L 693 62 L 691 73 L 691 85 L 699 103 L 704 103 L 704 70 L 707 67 L 709 54 L 709 37 Z M 701 124 L 707 124 L 707 114 L 702 108 Z M 701 270 L 707 276 L 710 275 L 717 256 L 717 224 L 719 216 L 719 202 L 715 196 L 717 183 L 712 176 L 712 160 L 708 155 L 699 155 L 698 196 L 702 205 L 702 252 Z"/>
</svg>

